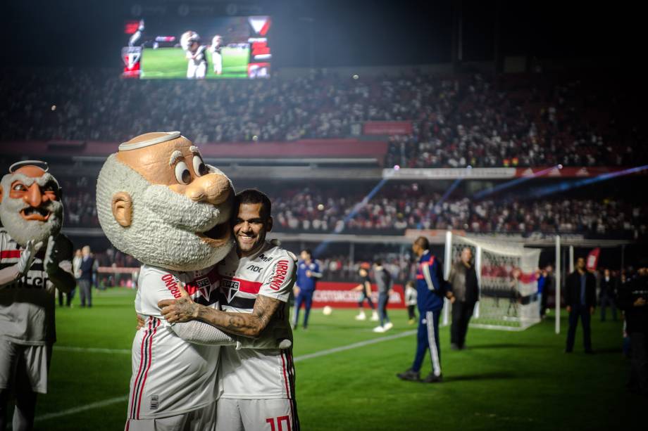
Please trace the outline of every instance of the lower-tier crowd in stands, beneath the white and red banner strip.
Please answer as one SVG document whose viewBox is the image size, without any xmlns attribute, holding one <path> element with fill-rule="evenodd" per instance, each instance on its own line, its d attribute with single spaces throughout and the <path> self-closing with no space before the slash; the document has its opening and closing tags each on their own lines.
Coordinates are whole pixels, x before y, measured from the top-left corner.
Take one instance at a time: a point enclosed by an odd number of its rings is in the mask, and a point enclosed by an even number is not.
<svg viewBox="0 0 648 431">
<path fill-rule="evenodd" d="M 68 227 L 99 227 L 94 184 L 85 177 L 63 180 Z M 275 231 L 402 233 L 404 229 L 461 229 L 473 233 L 583 233 L 644 236 L 648 206 L 623 198 L 475 200 L 423 191 L 416 184 L 387 186 L 370 200 L 354 188 L 278 188 Z"/>
</svg>

